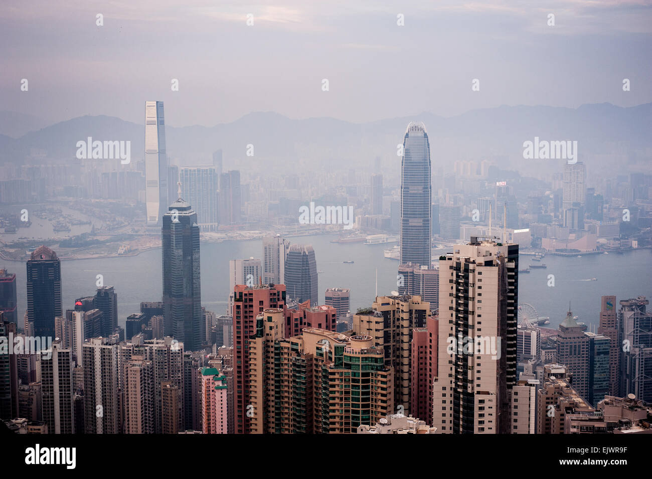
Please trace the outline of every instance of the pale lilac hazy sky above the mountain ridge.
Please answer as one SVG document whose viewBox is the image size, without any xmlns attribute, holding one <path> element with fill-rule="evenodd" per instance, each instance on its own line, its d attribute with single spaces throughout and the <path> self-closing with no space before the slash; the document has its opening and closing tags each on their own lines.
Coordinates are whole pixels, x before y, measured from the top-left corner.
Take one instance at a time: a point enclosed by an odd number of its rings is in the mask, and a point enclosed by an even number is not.
<svg viewBox="0 0 652 479">
<path fill-rule="evenodd" d="M 3 0 L 0 109 L 143 123 L 145 100 L 164 100 L 168 124 L 212 126 L 251 111 L 362 122 L 634 106 L 652 101 L 651 33 L 643 0 Z"/>
</svg>

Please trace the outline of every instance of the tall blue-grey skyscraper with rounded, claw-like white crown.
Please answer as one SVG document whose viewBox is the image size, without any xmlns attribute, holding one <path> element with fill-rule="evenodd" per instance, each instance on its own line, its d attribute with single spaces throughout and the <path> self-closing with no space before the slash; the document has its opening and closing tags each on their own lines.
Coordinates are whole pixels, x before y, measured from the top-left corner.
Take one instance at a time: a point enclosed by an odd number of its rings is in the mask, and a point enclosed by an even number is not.
<svg viewBox="0 0 652 479">
<path fill-rule="evenodd" d="M 400 264 L 430 266 L 430 143 L 423 123 L 410 123 L 401 167 Z"/>
</svg>

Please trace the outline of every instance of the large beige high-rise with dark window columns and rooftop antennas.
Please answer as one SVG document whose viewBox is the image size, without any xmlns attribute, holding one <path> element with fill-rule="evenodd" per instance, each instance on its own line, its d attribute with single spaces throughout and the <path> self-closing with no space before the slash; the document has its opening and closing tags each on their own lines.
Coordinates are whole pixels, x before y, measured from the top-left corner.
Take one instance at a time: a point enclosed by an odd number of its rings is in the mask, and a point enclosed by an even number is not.
<svg viewBox="0 0 652 479">
<path fill-rule="evenodd" d="M 518 244 L 471 237 L 439 257 L 437 432 L 509 433 L 516 385 Z"/>
</svg>

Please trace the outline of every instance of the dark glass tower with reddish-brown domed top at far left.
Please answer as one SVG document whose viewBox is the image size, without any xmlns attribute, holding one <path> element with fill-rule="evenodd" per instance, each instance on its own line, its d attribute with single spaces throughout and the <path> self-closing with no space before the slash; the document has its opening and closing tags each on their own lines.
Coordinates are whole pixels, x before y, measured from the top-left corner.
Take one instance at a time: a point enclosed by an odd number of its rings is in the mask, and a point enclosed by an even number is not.
<svg viewBox="0 0 652 479">
<path fill-rule="evenodd" d="M 27 321 L 34 336 L 54 338 L 54 318 L 61 313 L 61 261 L 50 248 L 39 246 L 27 261 Z"/>
</svg>

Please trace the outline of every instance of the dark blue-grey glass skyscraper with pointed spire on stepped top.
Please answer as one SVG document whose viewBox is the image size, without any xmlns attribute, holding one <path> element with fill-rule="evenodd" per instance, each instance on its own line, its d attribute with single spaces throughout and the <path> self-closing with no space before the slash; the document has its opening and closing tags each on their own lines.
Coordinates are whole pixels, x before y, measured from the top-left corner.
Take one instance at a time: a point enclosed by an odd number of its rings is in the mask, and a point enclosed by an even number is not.
<svg viewBox="0 0 652 479">
<path fill-rule="evenodd" d="M 166 336 L 186 351 L 200 349 L 205 338 L 201 315 L 200 228 L 197 214 L 183 199 L 163 216 L 163 303 Z"/>
</svg>

